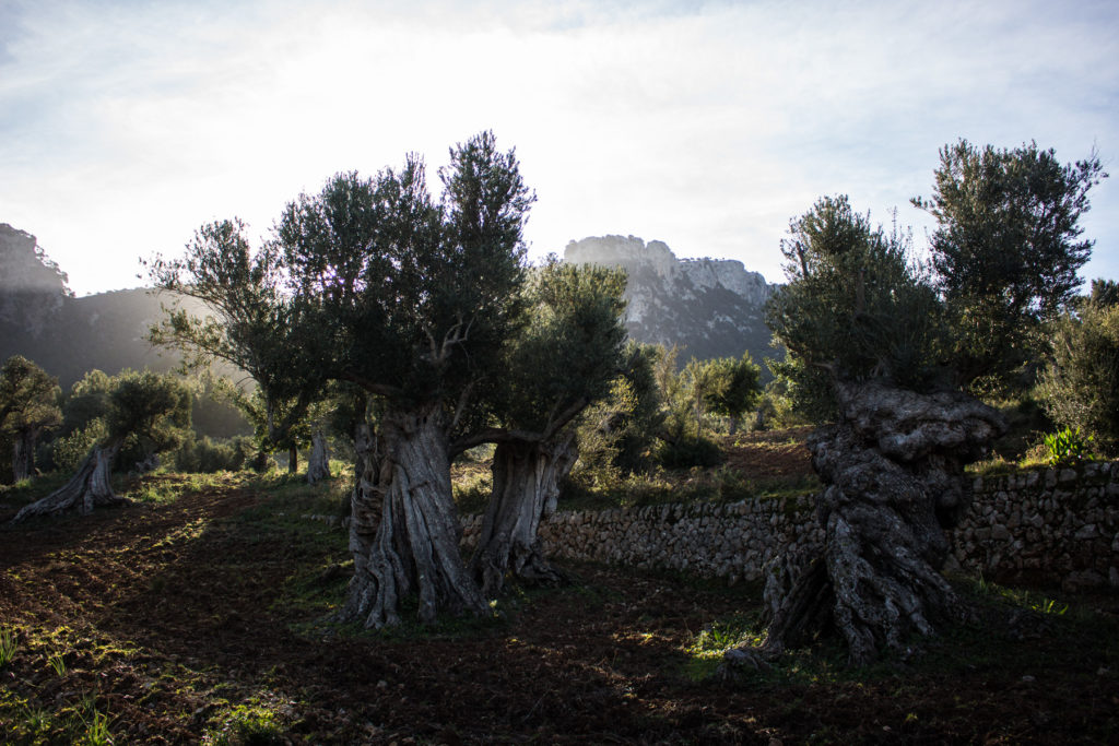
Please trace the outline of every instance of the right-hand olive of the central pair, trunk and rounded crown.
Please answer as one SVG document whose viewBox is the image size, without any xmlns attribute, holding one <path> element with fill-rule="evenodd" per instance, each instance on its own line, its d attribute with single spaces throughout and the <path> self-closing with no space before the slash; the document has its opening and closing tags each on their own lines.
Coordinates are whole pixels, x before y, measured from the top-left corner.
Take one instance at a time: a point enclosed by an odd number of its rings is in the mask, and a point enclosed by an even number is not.
<svg viewBox="0 0 1119 746">
<path fill-rule="evenodd" d="M 497 444 L 493 494 L 472 560 L 487 596 L 499 594 L 508 576 L 563 580 L 544 557 L 537 530 L 577 457 L 576 418 L 610 393 L 622 369 L 624 290 L 619 270 L 551 261 L 533 273 L 528 322 L 488 391 L 500 426 L 463 443 Z"/>
</svg>

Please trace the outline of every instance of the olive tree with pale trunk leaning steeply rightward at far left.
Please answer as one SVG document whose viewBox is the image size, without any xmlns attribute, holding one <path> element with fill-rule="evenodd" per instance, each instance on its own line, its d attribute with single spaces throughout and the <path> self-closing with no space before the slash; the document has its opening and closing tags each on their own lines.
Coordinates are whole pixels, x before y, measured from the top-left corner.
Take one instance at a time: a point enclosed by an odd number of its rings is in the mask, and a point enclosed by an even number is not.
<svg viewBox="0 0 1119 746">
<path fill-rule="evenodd" d="M 128 441 L 149 454 L 177 446 L 190 427 L 190 389 L 172 376 L 125 370 L 111 379 L 104 436 L 94 443 L 66 484 L 26 506 L 12 522 L 32 516 L 77 510 L 123 501 L 110 484 L 113 461 Z"/>
</svg>

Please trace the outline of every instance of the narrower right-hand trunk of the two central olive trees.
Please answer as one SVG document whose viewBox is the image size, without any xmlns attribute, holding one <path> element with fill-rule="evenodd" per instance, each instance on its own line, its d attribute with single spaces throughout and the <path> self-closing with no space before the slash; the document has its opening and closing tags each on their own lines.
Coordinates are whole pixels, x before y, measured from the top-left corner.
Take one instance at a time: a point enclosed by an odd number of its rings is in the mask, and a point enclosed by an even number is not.
<svg viewBox="0 0 1119 746">
<path fill-rule="evenodd" d="M 577 453 L 574 431 L 551 442 L 501 442 L 493 451 L 493 497 L 471 563 L 487 597 L 511 574 L 529 583 L 562 583 L 564 575 L 540 550 L 540 520 L 555 510 L 560 482 Z"/>
</svg>

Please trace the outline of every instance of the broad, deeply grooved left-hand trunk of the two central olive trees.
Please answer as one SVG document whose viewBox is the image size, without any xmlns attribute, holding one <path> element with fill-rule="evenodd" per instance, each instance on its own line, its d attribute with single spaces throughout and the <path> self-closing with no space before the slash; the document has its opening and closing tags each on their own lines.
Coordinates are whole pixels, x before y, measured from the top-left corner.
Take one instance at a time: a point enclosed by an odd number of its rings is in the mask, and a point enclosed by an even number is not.
<svg viewBox="0 0 1119 746">
<path fill-rule="evenodd" d="M 425 624 L 440 612 L 481 614 L 486 602 L 459 550 L 439 406 L 386 412 L 376 440 L 352 499 L 354 578 L 341 617 L 373 629 L 398 624 L 411 593 Z"/>
</svg>

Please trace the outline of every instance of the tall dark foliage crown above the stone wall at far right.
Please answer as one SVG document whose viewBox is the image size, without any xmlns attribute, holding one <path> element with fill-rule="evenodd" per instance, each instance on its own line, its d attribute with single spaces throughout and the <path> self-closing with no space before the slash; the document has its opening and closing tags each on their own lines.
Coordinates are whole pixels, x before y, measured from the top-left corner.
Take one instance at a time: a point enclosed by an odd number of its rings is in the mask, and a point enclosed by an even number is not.
<svg viewBox="0 0 1119 746">
<path fill-rule="evenodd" d="M 1043 353 L 1037 332 L 1080 285 L 1093 242 L 1082 238 L 1099 158 L 1062 166 L 1029 143 L 940 151 L 933 193 L 913 204 L 937 219 L 932 266 L 950 321 L 957 383 L 1025 389 Z M 1041 347 L 1044 347 L 1043 344 Z"/>
</svg>

